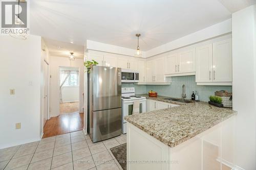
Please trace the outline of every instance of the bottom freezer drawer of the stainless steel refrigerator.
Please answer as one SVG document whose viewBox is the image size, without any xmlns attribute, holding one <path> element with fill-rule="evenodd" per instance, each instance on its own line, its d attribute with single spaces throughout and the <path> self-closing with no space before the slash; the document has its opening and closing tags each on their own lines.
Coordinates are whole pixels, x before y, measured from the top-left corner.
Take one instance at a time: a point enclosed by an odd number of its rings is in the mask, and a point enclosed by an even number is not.
<svg viewBox="0 0 256 170">
<path fill-rule="evenodd" d="M 97 142 L 121 135 L 121 108 L 93 112 L 92 141 Z"/>
</svg>

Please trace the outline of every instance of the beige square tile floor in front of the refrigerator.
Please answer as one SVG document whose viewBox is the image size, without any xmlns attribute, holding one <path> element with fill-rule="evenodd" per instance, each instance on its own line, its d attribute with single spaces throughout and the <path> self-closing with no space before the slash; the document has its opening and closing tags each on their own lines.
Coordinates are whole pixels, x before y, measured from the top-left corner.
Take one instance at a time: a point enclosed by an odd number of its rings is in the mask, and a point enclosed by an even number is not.
<svg viewBox="0 0 256 170">
<path fill-rule="evenodd" d="M 125 142 L 126 135 L 120 135 L 93 143 L 82 131 L 48 137 L 0 150 L 0 170 L 122 170 L 110 148 Z"/>
</svg>

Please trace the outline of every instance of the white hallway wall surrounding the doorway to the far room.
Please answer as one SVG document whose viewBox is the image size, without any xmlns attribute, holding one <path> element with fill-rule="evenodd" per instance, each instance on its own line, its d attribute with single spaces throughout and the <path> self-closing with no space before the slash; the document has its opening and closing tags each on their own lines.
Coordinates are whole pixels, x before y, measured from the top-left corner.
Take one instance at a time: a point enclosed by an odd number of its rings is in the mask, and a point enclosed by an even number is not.
<svg viewBox="0 0 256 170">
<path fill-rule="evenodd" d="M 79 112 L 83 108 L 83 59 L 70 61 L 66 57 L 50 56 L 50 116 L 59 115 L 59 67 L 78 67 L 79 68 Z"/>
</svg>

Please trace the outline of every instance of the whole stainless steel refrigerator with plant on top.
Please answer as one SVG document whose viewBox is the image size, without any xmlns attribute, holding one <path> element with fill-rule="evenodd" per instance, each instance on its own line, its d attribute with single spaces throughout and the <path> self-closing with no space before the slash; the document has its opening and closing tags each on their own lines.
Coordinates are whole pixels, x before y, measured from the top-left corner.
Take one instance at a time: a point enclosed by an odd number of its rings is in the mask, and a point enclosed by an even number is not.
<svg viewBox="0 0 256 170">
<path fill-rule="evenodd" d="M 121 68 L 94 66 L 88 74 L 88 134 L 93 142 L 121 135 Z"/>
</svg>

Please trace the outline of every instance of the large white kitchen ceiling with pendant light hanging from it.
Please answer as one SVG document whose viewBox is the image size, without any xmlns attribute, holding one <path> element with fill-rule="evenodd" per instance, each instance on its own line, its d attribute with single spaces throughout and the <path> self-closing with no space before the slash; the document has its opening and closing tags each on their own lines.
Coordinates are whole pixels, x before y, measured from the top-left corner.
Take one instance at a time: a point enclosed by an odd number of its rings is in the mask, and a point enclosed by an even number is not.
<svg viewBox="0 0 256 170">
<path fill-rule="evenodd" d="M 147 51 L 230 18 L 233 10 L 223 4 L 218 0 L 36 0 L 30 1 L 30 33 L 79 45 L 89 39 L 127 48 L 136 48 L 135 34 L 141 33 L 140 48 Z"/>
</svg>

